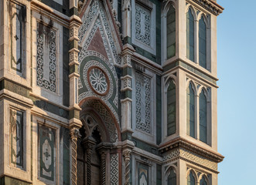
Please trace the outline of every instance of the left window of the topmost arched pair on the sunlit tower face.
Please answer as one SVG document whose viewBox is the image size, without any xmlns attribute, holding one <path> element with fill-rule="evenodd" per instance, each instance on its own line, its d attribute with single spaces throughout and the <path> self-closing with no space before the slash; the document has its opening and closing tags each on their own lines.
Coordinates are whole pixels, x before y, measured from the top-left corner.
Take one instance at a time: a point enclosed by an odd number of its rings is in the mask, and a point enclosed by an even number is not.
<svg viewBox="0 0 256 185">
<path fill-rule="evenodd" d="M 195 60 L 195 35 L 194 35 L 194 17 L 189 8 L 186 13 L 186 58 L 193 61 Z"/>
</svg>

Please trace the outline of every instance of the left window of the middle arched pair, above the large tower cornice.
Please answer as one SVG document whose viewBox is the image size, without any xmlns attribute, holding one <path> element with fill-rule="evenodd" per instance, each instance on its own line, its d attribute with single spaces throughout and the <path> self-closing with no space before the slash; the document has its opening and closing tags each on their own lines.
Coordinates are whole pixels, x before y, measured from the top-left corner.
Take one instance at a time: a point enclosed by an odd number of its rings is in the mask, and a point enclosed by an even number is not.
<svg viewBox="0 0 256 185">
<path fill-rule="evenodd" d="M 195 137 L 195 93 L 191 82 L 186 89 L 186 133 Z"/>
</svg>

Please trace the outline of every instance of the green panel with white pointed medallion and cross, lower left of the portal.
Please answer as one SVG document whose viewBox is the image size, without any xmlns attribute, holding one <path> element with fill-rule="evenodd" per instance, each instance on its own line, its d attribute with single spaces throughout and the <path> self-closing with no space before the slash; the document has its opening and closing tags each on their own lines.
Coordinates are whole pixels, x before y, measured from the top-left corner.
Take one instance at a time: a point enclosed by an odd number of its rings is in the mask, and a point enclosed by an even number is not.
<svg viewBox="0 0 256 185">
<path fill-rule="evenodd" d="M 56 130 L 39 125 L 39 177 L 54 181 L 56 167 Z"/>
</svg>

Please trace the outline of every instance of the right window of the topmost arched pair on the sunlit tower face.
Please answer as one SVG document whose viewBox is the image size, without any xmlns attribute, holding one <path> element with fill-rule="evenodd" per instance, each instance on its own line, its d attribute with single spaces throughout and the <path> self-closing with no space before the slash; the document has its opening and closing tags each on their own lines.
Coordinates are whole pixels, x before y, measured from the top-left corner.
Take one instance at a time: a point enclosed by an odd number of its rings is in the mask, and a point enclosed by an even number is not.
<svg viewBox="0 0 256 185">
<path fill-rule="evenodd" d="M 207 69 L 207 25 L 203 16 L 199 21 L 199 65 Z"/>
</svg>

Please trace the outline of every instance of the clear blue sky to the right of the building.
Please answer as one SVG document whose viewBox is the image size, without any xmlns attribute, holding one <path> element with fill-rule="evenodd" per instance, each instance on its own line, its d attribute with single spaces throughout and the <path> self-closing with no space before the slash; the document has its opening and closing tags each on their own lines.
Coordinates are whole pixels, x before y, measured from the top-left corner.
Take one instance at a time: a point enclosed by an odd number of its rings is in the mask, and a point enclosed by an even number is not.
<svg viewBox="0 0 256 185">
<path fill-rule="evenodd" d="M 254 184 L 256 167 L 256 2 L 217 0 L 220 185 Z"/>
</svg>

